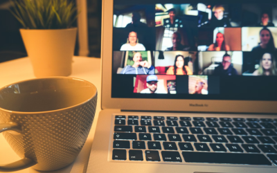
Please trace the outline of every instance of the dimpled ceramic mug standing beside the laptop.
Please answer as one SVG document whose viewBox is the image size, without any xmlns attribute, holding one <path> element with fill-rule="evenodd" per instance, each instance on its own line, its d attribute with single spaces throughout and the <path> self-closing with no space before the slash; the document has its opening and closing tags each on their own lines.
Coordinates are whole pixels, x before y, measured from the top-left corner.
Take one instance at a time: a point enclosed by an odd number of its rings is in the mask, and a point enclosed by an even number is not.
<svg viewBox="0 0 277 173">
<path fill-rule="evenodd" d="M 22 159 L 0 166 L 0 172 L 31 166 L 51 171 L 72 163 L 89 135 L 96 102 L 96 86 L 78 78 L 38 78 L 1 88 L 0 133 Z"/>
</svg>

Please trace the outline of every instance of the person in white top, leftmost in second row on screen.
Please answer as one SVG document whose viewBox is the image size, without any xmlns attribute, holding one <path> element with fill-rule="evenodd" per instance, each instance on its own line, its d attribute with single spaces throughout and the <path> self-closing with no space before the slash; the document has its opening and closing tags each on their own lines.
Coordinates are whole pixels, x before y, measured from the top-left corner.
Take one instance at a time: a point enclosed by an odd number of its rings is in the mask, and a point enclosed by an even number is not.
<svg viewBox="0 0 277 173">
<path fill-rule="evenodd" d="M 127 43 L 123 44 L 120 51 L 145 51 L 143 44 L 139 44 L 139 39 L 137 33 L 131 31 L 127 38 Z"/>
</svg>

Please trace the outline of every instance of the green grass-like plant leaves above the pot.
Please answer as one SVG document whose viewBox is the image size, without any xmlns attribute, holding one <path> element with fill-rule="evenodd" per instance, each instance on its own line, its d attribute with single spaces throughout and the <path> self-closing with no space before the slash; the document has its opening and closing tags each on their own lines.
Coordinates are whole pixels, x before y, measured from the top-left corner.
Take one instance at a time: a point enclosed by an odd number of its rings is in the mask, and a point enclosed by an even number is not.
<svg viewBox="0 0 277 173">
<path fill-rule="evenodd" d="M 10 0 L 12 15 L 26 29 L 71 28 L 78 17 L 73 0 Z"/>
</svg>

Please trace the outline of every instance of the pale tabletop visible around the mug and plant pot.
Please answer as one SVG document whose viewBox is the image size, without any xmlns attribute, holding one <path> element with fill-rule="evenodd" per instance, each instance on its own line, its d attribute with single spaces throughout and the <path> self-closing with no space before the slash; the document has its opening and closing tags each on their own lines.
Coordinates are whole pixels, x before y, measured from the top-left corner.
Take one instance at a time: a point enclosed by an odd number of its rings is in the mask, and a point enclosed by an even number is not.
<svg viewBox="0 0 277 173">
<path fill-rule="evenodd" d="M 87 172 L 87 163 L 89 161 L 89 154 L 91 151 L 91 144 L 96 129 L 96 122 L 98 120 L 98 113 L 100 111 L 100 58 L 93 57 L 73 57 L 71 77 L 80 78 L 93 83 L 98 89 L 98 103 L 96 108 L 96 117 L 91 127 L 91 132 L 87 138 L 87 142 L 84 144 L 82 151 L 76 158 L 76 160 L 69 166 L 62 168 L 61 170 L 53 171 L 57 173 L 80 173 Z M 0 63 L 0 88 L 18 82 L 21 80 L 28 80 L 35 78 L 33 74 L 33 68 L 30 64 L 28 57 L 12 60 L 8 62 Z M 3 134 L 0 134 L 0 165 L 12 163 L 19 160 L 19 156 L 13 152 L 12 148 L 3 138 Z M 38 173 L 32 168 L 26 170 L 20 170 L 17 172 L 22 173 Z"/>
</svg>

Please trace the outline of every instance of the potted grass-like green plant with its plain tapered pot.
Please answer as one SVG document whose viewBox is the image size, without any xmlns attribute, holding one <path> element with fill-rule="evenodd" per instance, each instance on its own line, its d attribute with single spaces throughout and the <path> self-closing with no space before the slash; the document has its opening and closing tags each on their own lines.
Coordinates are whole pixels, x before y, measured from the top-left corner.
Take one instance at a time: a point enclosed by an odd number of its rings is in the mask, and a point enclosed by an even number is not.
<svg viewBox="0 0 277 173">
<path fill-rule="evenodd" d="M 72 0 L 12 0 L 36 77 L 70 75 L 78 10 Z"/>
</svg>

